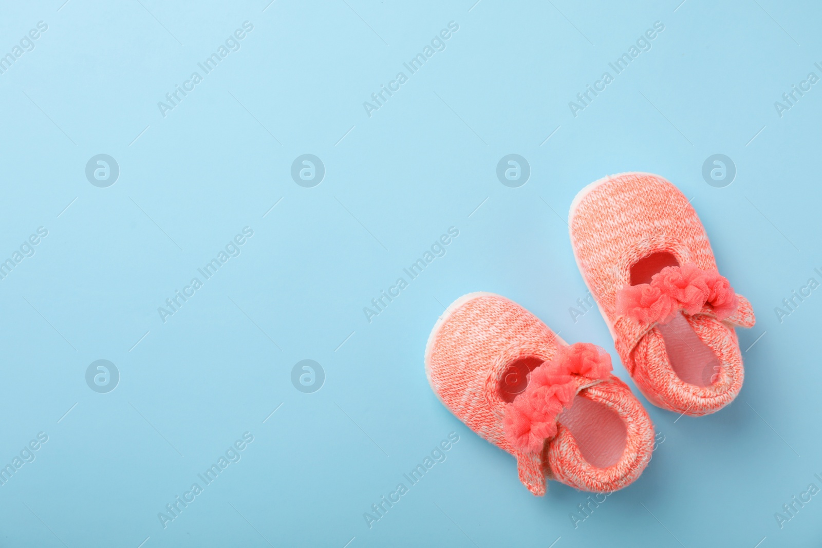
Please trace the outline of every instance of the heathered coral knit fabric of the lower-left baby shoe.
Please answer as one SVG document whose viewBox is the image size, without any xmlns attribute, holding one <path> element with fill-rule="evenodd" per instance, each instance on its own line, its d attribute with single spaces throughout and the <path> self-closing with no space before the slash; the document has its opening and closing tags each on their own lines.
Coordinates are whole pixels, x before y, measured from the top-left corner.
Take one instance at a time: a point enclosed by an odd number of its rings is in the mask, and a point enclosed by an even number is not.
<svg viewBox="0 0 822 548">
<path fill-rule="evenodd" d="M 653 426 L 630 389 L 613 375 L 606 380 L 574 376 L 578 397 L 602 403 L 626 425 L 626 449 L 613 466 L 598 468 L 586 462 L 574 436 L 561 424 L 539 452 L 519 451 L 506 439 L 506 402 L 500 389 L 507 367 L 527 357 L 551 361 L 560 345 L 565 343 L 542 321 L 505 297 L 466 296 L 446 311 L 432 331 L 426 372 L 446 408 L 471 430 L 515 455 L 520 481 L 534 495 L 545 493 L 546 477 L 581 490 L 621 489 L 648 464 Z"/>
</svg>

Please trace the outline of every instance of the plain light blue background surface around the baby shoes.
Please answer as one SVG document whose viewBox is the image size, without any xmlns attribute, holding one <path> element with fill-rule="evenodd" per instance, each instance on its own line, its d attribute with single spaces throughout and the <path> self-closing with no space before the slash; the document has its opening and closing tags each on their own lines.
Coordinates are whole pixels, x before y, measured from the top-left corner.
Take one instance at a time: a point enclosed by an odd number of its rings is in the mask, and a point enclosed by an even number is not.
<svg viewBox="0 0 822 548">
<path fill-rule="evenodd" d="M 0 546 L 819 546 L 822 495 L 774 518 L 822 487 L 822 290 L 774 313 L 822 282 L 822 84 L 774 108 L 822 76 L 817 3 L 141 2 L 0 7 L 0 54 L 48 24 L 0 75 L 0 260 L 48 229 L 0 281 L 0 461 L 48 435 L 0 486 Z M 163 117 L 243 21 L 240 50 Z M 445 51 L 368 117 L 449 21 Z M 574 117 L 654 21 L 651 50 Z M 121 170 L 109 188 L 85 178 L 101 153 Z M 317 187 L 290 177 L 305 153 L 326 166 Z M 531 166 L 523 187 L 496 179 L 510 153 Z M 729 187 L 701 176 L 716 153 L 736 163 Z M 423 349 L 443 306 L 491 291 L 614 354 L 597 311 L 569 314 L 585 288 L 565 221 L 581 187 L 633 170 L 693 198 L 758 322 L 739 333 L 737 401 L 678 420 L 648 405 L 653 461 L 575 528 L 586 495 L 530 495 L 436 400 Z M 160 320 L 245 226 L 242 254 Z M 451 226 L 446 256 L 368 323 L 363 306 Z M 101 358 L 121 375 L 109 394 L 85 384 Z M 307 358 L 326 372 L 314 394 L 290 380 Z M 162 527 L 246 431 L 242 460 Z M 369 529 L 363 513 L 452 431 L 446 461 Z"/>
</svg>

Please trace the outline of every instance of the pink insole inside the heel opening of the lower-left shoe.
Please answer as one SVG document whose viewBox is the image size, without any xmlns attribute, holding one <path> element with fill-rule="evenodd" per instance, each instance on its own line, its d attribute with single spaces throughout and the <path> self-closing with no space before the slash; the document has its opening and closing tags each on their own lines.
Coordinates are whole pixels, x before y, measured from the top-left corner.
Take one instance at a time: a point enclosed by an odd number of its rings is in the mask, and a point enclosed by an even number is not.
<svg viewBox="0 0 822 548">
<path fill-rule="evenodd" d="M 571 407 L 560 413 L 559 422 L 574 435 L 583 458 L 595 467 L 613 466 L 625 451 L 625 423 L 603 403 L 577 395 Z"/>
</svg>

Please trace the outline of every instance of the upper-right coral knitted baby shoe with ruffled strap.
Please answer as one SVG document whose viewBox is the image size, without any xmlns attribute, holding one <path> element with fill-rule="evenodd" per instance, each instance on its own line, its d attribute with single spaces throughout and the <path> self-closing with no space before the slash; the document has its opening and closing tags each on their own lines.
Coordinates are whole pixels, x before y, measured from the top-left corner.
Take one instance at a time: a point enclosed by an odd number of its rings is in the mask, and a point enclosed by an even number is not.
<svg viewBox="0 0 822 548">
<path fill-rule="evenodd" d="M 685 196 L 658 175 L 591 183 L 570 207 L 576 263 L 622 363 L 645 397 L 688 415 L 718 411 L 742 387 L 735 326 L 750 303 L 717 271 Z"/>
</svg>

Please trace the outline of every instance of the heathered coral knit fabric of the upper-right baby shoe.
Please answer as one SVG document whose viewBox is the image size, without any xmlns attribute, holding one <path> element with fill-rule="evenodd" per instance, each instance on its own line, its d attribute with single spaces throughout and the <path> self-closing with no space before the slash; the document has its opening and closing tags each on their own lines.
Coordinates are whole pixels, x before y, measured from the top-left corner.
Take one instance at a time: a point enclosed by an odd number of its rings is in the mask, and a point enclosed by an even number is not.
<svg viewBox="0 0 822 548">
<path fill-rule="evenodd" d="M 706 303 L 685 318 L 719 359 L 709 386 L 690 385 L 673 371 L 655 321 L 620 314 L 617 294 L 630 286 L 630 268 L 653 253 L 667 252 L 679 265 L 715 272 L 708 236 L 687 198 L 662 177 L 625 173 L 589 189 L 570 213 L 571 245 L 593 298 L 606 316 L 622 363 L 655 405 L 704 415 L 737 397 L 744 371 L 734 327 L 754 325 L 753 310 L 737 295 L 737 311 L 718 320 Z M 694 311 L 690 311 L 694 312 Z M 645 320 L 649 320 L 645 318 Z"/>
</svg>

